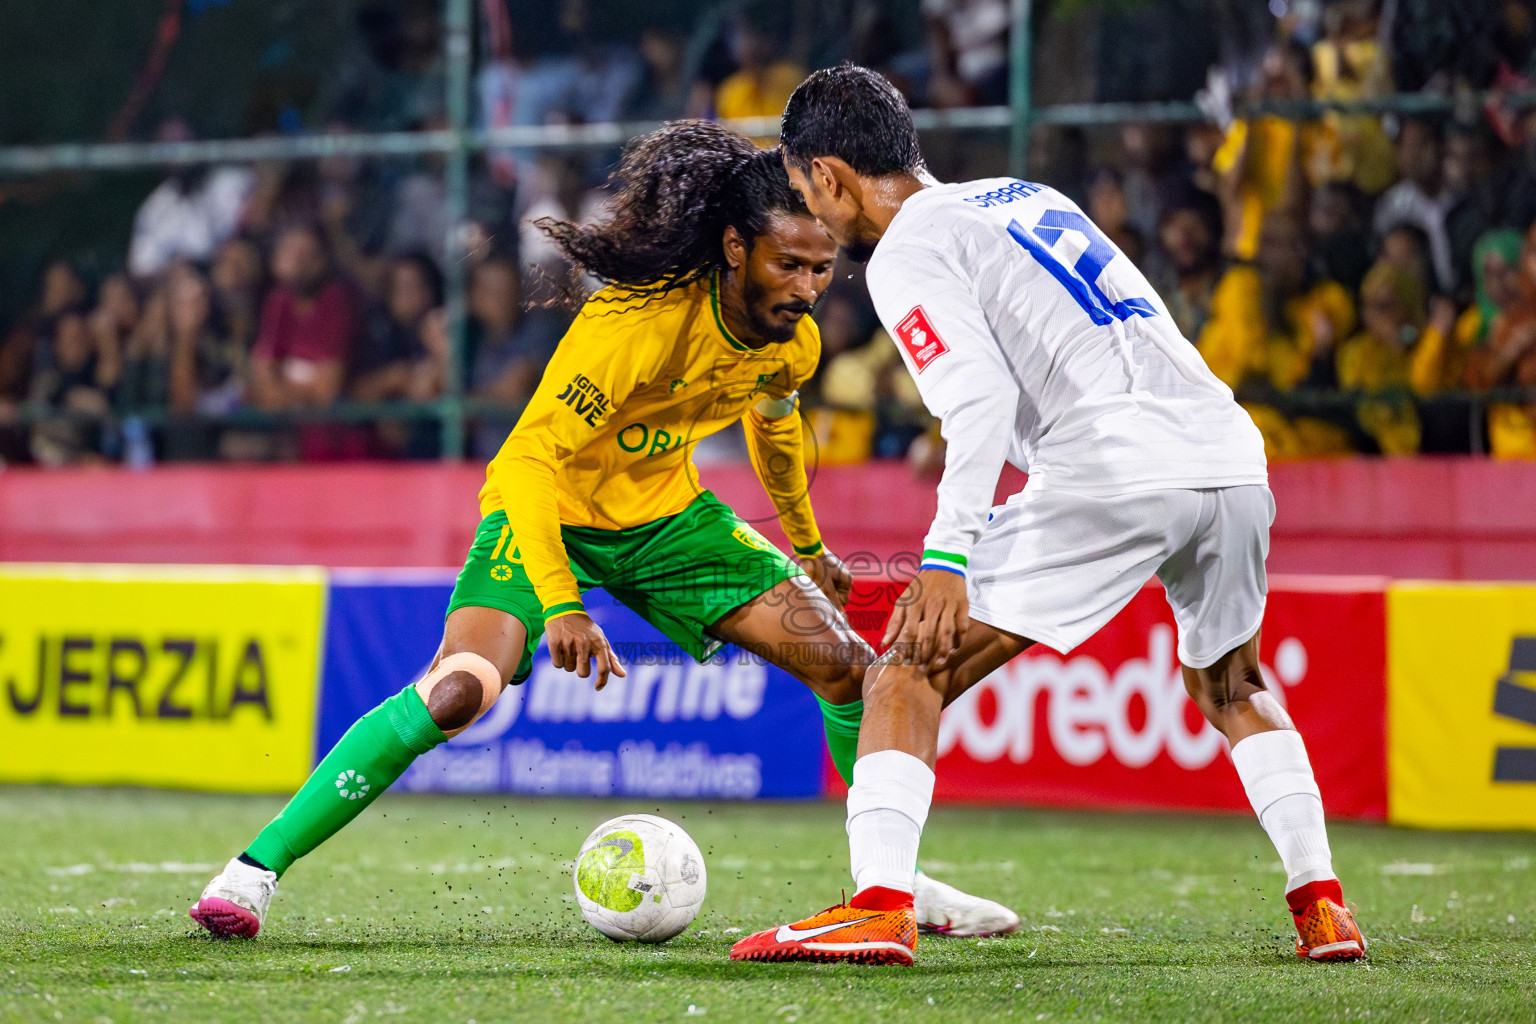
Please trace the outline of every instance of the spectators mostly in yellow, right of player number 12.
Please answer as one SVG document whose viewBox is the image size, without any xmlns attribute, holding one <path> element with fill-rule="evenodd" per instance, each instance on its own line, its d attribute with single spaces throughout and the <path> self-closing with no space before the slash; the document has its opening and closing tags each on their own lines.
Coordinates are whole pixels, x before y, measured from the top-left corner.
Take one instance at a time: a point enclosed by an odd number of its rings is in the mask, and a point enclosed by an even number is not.
<svg viewBox="0 0 1536 1024">
<path fill-rule="evenodd" d="M 1524 71 L 1530 11 L 1504 14 Z M 1181 140 L 1126 127 L 1121 164 L 1089 177 L 1084 204 L 1236 391 L 1270 457 L 1536 457 L 1536 405 L 1479 398 L 1536 385 L 1536 115 L 1493 100 L 1439 118 L 1232 117 L 1233 94 L 1389 94 L 1379 17 L 1346 0 L 1313 25 L 1281 20 L 1247 83 L 1212 75 L 1209 123 Z M 1521 71 L 1502 63 L 1496 84 L 1531 89 Z"/>
</svg>

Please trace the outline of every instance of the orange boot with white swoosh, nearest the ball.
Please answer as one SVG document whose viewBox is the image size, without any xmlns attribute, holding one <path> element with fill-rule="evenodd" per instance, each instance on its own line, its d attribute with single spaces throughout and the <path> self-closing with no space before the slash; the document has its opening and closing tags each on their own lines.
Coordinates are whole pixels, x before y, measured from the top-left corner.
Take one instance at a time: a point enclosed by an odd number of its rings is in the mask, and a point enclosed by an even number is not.
<svg viewBox="0 0 1536 1024">
<path fill-rule="evenodd" d="M 731 960 L 803 960 L 817 964 L 911 966 L 917 949 L 912 894 L 872 887 L 794 924 L 748 935 L 731 946 Z"/>
</svg>

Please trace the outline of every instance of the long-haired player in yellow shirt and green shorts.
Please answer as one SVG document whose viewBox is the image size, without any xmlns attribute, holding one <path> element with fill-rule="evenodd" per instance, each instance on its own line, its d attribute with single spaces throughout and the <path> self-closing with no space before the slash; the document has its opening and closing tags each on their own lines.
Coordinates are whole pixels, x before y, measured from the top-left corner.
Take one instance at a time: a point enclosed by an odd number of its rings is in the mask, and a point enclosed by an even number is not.
<svg viewBox="0 0 1536 1024">
<path fill-rule="evenodd" d="M 541 636 L 556 668 L 598 689 L 625 676 L 582 603 L 593 586 L 700 662 L 736 643 L 800 679 L 851 778 L 874 651 L 840 613 L 852 580 L 816 527 L 796 405 L 820 355 L 809 313 L 836 244 L 779 154 L 716 124 L 679 121 L 639 140 L 614 184 L 601 223 L 539 223 L 573 275 L 604 287 L 487 467 L 484 519 L 432 668 L 359 718 L 209 883 L 192 917 L 215 935 L 255 935 L 293 861 L 524 682 Z M 699 482 L 693 445 L 737 421 L 794 557 Z M 338 800 L 343 777 L 367 786 Z M 919 924 L 982 935 L 1018 923 L 988 900 L 922 884 Z"/>
</svg>

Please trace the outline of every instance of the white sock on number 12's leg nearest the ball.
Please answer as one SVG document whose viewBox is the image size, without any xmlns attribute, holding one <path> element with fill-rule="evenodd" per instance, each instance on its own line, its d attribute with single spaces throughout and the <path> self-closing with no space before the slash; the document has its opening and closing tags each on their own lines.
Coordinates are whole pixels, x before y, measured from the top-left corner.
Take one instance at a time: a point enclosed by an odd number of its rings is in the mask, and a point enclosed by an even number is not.
<svg viewBox="0 0 1536 1024">
<path fill-rule="evenodd" d="M 854 889 L 912 890 L 917 846 L 934 800 L 934 769 L 902 751 L 876 751 L 854 761 L 848 788 L 848 852 Z"/>
</svg>

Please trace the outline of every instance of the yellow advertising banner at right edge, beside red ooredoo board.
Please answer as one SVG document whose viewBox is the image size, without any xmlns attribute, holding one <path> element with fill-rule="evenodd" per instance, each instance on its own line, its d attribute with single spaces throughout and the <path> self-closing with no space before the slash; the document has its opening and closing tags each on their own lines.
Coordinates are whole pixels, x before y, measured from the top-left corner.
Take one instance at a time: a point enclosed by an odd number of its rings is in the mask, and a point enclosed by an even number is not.
<svg viewBox="0 0 1536 1024">
<path fill-rule="evenodd" d="M 1536 586 L 1387 593 L 1387 817 L 1536 827 Z"/>
</svg>

